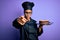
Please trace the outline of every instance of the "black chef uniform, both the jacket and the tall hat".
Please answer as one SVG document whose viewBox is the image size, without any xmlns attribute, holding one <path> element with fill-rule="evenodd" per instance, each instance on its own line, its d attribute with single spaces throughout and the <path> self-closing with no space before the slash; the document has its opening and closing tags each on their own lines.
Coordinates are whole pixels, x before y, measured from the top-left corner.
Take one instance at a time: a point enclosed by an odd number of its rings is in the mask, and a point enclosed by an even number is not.
<svg viewBox="0 0 60 40">
<path fill-rule="evenodd" d="M 33 6 L 34 3 L 32 2 L 24 2 L 22 4 L 24 10 L 32 10 Z M 41 32 L 39 32 L 36 21 L 30 17 L 30 21 L 27 21 L 24 25 L 21 25 L 17 22 L 17 19 L 18 18 L 13 21 L 13 26 L 20 29 L 20 40 L 38 40 L 38 36 L 43 33 L 43 29 L 41 28 Z"/>
</svg>

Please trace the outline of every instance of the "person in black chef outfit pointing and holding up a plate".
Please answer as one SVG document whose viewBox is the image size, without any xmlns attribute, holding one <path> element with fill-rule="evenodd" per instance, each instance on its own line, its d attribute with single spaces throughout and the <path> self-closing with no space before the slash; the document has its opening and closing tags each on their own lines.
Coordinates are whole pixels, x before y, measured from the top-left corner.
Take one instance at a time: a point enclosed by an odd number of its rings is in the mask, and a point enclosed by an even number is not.
<svg viewBox="0 0 60 40">
<path fill-rule="evenodd" d="M 48 24 L 41 21 L 39 28 L 37 28 L 36 21 L 31 18 L 33 6 L 33 2 L 22 3 L 24 16 L 13 21 L 13 26 L 20 29 L 20 40 L 38 40 L 38 36 L 43 33 L 42 26 Z"/>
</svg>

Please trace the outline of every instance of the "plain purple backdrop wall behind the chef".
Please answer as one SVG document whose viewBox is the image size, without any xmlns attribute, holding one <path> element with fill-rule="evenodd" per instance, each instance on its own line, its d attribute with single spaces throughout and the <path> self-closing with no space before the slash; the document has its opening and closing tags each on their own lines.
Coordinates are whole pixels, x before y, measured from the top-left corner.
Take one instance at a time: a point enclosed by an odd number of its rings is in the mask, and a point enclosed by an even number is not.
<svg viewBox="0 0 60 40">
<path fill-rule="evenodd" d="M 60 40 L 60 0 L 0 0 L 0 40 L 19 40 L 19 30 L 12 26 L 12 21 L 23 15 L 22 2 L 35 3 L 32 18 L 54 22 L 44 26 L 44 33 L 39 40 Z"/>
</svg>

